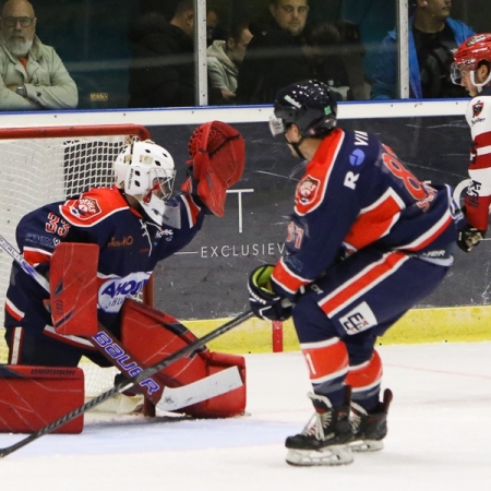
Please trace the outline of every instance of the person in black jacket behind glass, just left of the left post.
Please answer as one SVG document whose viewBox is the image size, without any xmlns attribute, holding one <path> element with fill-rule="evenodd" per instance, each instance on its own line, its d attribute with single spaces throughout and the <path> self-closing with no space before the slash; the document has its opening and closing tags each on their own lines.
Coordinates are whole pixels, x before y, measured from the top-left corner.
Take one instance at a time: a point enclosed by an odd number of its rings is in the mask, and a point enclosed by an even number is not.
<svg viewBox="0 0 491 491">
<path fill-rule="evenodd" d="M 149 12 L 130 29 L 129 107 L 189 107 L 194 97 L 194 1 L 181 0 L 167 22 Z"/>
</svg>

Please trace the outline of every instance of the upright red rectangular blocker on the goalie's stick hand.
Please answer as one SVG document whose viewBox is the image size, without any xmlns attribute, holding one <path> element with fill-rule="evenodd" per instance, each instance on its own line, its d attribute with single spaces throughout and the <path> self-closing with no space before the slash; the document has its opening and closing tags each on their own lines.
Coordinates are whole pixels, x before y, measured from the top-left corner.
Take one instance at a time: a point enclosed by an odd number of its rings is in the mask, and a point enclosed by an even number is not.
<svg viewBox="0 0 491 491">
<path fill-rule="evenodd" d="M 97 264 L 93 243 L 62 242 L 49 267 L 51 318 L 63 335 L 92 336 L 97 326 Z"/>
</svg>

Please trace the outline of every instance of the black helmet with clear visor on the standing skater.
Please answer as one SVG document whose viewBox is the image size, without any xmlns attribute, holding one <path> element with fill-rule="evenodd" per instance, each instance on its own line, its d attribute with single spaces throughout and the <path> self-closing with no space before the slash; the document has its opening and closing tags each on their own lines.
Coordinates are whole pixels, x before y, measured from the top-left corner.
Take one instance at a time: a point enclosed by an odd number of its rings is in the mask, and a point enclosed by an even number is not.
<svg viewBox="0 0 491 491">
<path fill-rule="evenodd" d="M 270 129 L 277 135 L 295 123 L 302 136 L 325 136 L 336 127 L 336 97 L 330 87 L 323 82 L 308 80 L 288 85 L 276 94 Z"/>
</svg>

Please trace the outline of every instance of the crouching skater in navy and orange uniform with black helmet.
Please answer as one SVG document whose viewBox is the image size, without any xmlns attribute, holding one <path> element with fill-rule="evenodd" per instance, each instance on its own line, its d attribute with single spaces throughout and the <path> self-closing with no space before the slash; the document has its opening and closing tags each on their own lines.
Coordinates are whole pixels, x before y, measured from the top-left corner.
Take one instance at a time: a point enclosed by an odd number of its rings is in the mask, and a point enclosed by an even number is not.
<svg viewBox="0 0 491 491">
<path fill-rule="evenodd" d="M 336 115 L 321 82 L 278 92 L 272 132 L 307 166 L 287 254 L 249 279 L 258 316 L 292 316 L 309 369 L 315 414 L 286 440 L 298 466 L 348 464 L 352 451 L 383 447 L 392 392 L 380 400 L 376 336 L 442 282 L 462 217 L 447 185 L 419 181 L 376 136 L 337 128 Z"/>
</svg>

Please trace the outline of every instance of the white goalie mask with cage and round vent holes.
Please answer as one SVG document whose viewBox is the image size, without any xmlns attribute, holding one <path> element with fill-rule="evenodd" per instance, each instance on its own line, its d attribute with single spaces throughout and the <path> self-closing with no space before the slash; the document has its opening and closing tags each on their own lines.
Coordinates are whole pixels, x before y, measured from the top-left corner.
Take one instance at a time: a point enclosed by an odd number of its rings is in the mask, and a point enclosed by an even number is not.
<svg viewBox="0 0 491 491">
<path fill-rule="evenodd" d="M 172 194 L 176 170 L 171 155 L 151 140 L 133 142 L 115 161 L 116 185 L 134 196 L 145 213 L 161 225 L 165 201 Z"/>
</svg>

